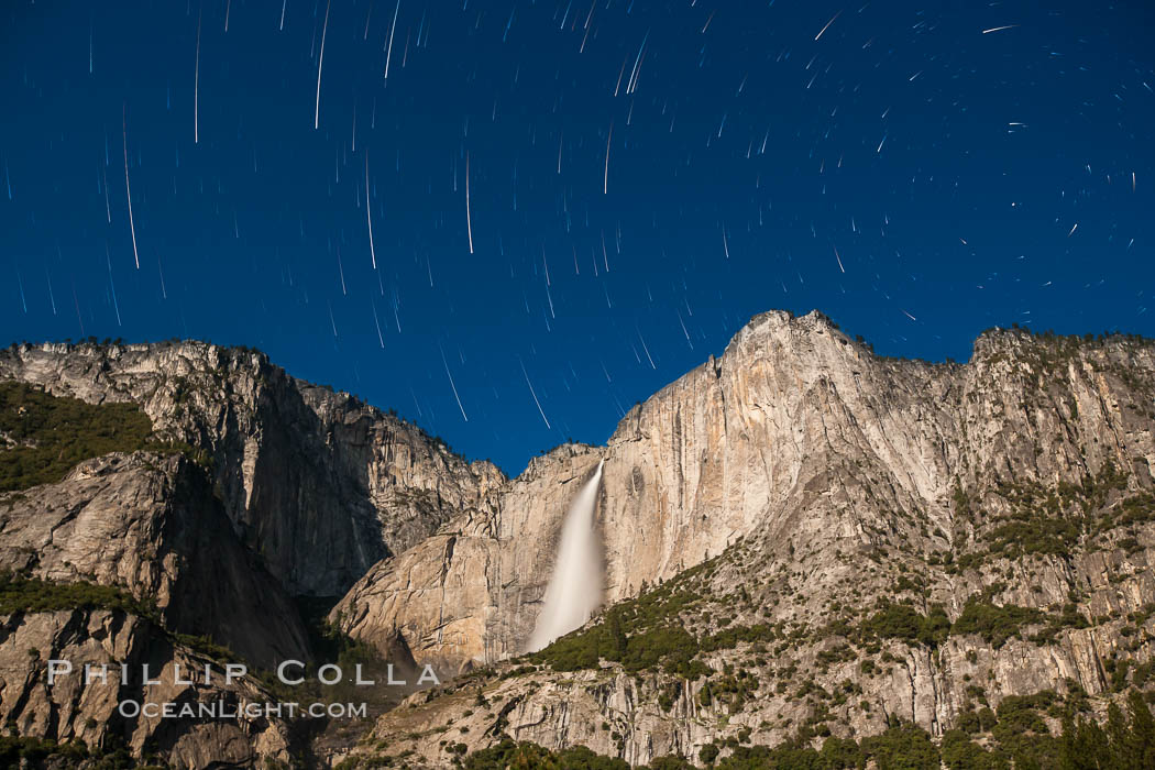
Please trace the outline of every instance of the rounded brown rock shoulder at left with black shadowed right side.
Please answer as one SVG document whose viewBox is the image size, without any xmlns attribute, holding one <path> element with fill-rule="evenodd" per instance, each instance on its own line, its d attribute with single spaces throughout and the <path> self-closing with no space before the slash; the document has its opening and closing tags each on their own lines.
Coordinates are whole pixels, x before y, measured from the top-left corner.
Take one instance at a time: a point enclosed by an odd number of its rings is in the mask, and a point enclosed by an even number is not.
<svg viewBox="0 0 1155 770">
<path fill-rule="evenodd" d="M 232 536 L 203 470 L 179 455 L 109 455 L 0 498 L 0 571 L 122 588 L 165 627 L 264 668 L 311 657 L 290 597 Z"/>
</svg>

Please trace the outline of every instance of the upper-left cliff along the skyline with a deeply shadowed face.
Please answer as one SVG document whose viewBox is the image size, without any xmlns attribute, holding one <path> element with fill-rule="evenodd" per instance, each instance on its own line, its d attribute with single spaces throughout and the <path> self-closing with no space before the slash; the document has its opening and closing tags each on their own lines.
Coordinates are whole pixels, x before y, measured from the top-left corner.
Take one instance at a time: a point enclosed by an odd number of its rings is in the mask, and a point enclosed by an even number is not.
<svg viewBox="0 0 1155 770">
<path fill-rule="evenodd" d="M 487 510 L 504 480 L 348 394 L 258 352 L 184 342 L 0 351 L 0 379 L 89 403 L 134 402 L 162 435 L 202 448 L 241 541 L 290 593 L 340 596 L 452 515 Z"/>
</svg>

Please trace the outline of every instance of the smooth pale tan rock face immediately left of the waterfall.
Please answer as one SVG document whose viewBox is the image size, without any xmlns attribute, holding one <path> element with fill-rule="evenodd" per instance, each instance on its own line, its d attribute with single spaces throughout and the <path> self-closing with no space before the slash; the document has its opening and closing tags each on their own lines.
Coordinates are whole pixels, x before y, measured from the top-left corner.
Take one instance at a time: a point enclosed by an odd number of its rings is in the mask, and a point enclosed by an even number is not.
<svg viewBox="0 0 1155 770">
<path fill-rule="evenodd" d="M 535 458 L 501 489 L 494 513 L 463 515 L 381 561 L 330 620 L 379 645 L 400 633 L 419 663 L 449 673 L 520 653 L 550 578 L 561 518 L 599 458 L 576 446 Z"/>
</svg>

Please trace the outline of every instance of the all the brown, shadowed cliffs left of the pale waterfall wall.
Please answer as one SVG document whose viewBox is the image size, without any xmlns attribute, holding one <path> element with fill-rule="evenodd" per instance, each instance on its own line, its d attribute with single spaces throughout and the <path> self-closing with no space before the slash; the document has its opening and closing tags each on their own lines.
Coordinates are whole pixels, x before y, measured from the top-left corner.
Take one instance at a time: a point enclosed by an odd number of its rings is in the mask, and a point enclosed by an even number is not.
<svg viewBox="0 0 1155 770">
<path fill-rule="evenodd" d="M 249 678 L 177 683 L 172 664 L 187 672 L 221 655 L 199 652 L 204 645 L 192 637 L 266 670 L 307 660 L 293 596 L 340 596 L 450 517 L 492 516 L 504 481 L 492 464 L 468 464 L 415 426 L 295 380 L 247 350 L 13 346 L 0 351 L 2 380 L 91 404 L 132 402 L 157 440 L 184 444 L 188 457 L 112 454 L 59 483 L 0 494 L 0 573 L 24 581 L 6 592 L 0 614 L 0 716 L 21 735 L 125 745 L 174 767 L 301 761 L 300 735 L 290 753 L 293 733 L 281 718 L 117 712 L 126 700 L 276 702 Z M 0 434 L 0 450 L 15 446 Z M 136 603 L 105 606 L 124 601 L 104 588 Z M 46 600 L 53 590 L 65 598 Z M 402 638 L 394 642 L 390 652 L 404 650 Z M 77 670 L 126 663 L 137 674 L 141 664 L 167 673 L 147 688 L 118 687 L 114 670 L 106 686 L 49 687 L 50 658 Z M 223 664 L 214 665 L 219 676 Z"/>
</svg>

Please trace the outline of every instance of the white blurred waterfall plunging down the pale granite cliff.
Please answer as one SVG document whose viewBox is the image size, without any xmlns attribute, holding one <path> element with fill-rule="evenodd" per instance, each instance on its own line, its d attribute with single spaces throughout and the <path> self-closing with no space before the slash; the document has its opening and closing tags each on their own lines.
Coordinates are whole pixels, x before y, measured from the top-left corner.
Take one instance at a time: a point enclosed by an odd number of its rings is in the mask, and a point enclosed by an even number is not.
<svg viewBox="0 0 1155 770">
<path fill-rule="evenodd" d="M 602 599 L 602 565 L 594 530 L 594 507 L 604 464 L 605 461 L 597 464 L 594 477 L 586 481 L 569 503 L 561 525 L 558 560 L 545 589 L 545 604 L 529 637 L 529 652 L 536 652 L 584 625 Z"/>
</svg>

